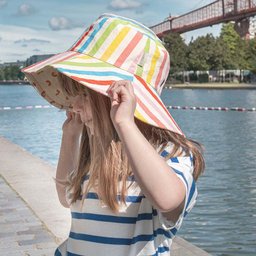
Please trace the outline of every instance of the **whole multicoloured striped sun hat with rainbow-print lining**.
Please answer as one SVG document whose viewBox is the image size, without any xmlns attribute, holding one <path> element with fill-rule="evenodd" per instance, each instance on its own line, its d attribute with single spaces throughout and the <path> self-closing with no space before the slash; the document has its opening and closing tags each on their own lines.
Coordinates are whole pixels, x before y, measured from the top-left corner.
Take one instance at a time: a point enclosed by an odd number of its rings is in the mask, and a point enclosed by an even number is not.
<svg viewBox="0 0 256 256">
<path fill-rule="evenodd" d="M 105 13 L 68 51 L 22 72 L 46 101 L 70 111 L 74 98 L 62 92 L 56 70 L 109 97 L 113 81 L 129 79 L 137 98 L 135 117 L 184 136 L 160 98 L 169 69 L 168 51 L 153 31 L 138 21 Z"/>
</svg>

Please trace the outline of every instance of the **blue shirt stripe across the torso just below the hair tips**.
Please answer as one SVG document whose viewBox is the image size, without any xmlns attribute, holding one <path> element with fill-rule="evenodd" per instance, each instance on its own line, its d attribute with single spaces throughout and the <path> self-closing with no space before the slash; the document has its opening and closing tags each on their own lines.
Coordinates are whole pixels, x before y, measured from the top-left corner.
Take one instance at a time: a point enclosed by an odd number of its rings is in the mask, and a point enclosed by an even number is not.
<svg viewBox="0 0 256 256">
<path fill-rule="evenodd" d="M 81 212 L 71 212 L 73 219 L 88 219 L 103 222 L 114 222 L 114 223 L 125 223 L 125 224 L 135 224 L 140 220 L 152 220 L 152 213 L 140 213 L 137 217 L 120 217 L 104 214 L 94 214 L 94 213 L 81 213 Z"/>
</svg>

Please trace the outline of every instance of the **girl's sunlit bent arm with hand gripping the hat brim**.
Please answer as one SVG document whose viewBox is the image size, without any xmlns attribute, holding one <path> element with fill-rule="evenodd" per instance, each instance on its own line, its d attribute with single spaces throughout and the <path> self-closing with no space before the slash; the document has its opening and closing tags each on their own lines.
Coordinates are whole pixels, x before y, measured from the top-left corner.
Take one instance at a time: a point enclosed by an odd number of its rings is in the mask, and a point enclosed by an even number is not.
<svg viewBox="0 0 256 256">
<path fill-rule="evenodd" d="M 184 183 L 135 125 L 136 97 L 131 81 L 113 82 L 108 90 L 113 97 L 110 115 L 142 193 L 164 217 L 175 222 L 184 207 Z"/>
</svg>

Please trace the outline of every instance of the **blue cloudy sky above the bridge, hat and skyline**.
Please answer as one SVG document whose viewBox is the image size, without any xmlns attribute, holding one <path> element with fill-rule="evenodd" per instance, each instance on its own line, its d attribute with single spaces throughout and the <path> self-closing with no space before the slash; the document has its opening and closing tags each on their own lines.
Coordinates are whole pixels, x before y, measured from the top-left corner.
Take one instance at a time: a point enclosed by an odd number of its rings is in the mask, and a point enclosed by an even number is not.
<svg viewBox="0 0 256 256">
<path fill-rule="evenodd" d="M 150 27 L 212 0 L 0 0 L 0 63 L 25 61 L 32 55 L 67 51 L 103 13 L 114 13 Z M 182 34 L 219 36 L 222 24 Z"/>
</svg>

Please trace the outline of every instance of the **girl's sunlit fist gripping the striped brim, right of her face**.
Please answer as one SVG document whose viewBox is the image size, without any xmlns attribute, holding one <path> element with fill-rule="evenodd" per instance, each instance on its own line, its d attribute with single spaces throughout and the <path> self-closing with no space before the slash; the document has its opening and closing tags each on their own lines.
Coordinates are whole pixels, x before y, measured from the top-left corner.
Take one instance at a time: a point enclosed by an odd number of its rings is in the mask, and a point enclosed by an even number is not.
<svg viewBox="0 0 256 256">
<path fill-rule="evenodd" d="M 110 84 L 108 91 L 112 95 L 110 117 L 115 128 L 134 124 L 137 99 L 131 81 L 115 81 Z"/>
</svg>

